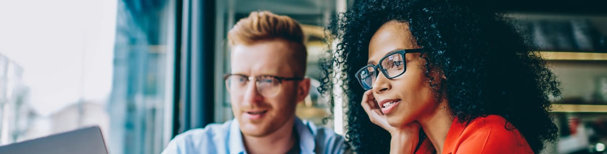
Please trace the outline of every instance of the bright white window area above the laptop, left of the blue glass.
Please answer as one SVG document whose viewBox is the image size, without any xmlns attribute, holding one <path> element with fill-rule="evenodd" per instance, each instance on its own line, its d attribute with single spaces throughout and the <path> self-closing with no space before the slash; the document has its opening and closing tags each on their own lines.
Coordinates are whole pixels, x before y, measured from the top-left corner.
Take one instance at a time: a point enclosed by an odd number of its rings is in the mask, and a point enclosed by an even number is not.
<svg viewBox="0 0 607 154">
<path fill-rule="evenodd" d="M 0 1 L 0 52 L 8 60 L 2 74 L 9 75 L 0 144 L 92 124 L 110 133 L 116 5 Z"/>
</svg>

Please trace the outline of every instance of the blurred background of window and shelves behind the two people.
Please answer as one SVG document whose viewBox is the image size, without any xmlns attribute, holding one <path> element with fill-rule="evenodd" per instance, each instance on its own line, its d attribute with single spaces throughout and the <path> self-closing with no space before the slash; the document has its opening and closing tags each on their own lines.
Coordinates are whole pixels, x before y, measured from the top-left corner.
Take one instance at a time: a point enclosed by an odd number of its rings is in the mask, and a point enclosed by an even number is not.
<svg viewBox="0 0 607 154">
<path fill-rule="evenodd" d="M 291 16 L 308 36 L 310 96 L 297 115 L 343 134 L 319 58 L 324 27 L 354 0 L 0 0 L 0 145 L 99 125 L 110 153 L 160 153 L 185 130 L 233 118 L 226 33 L 250 11 Z M 607 4 L 486 1 L 532 37 L 563 85 L 560 141 L 544 153 L 606 153 Z M 498 37 L 498 36 L 497 36 Z"/>
</svg>

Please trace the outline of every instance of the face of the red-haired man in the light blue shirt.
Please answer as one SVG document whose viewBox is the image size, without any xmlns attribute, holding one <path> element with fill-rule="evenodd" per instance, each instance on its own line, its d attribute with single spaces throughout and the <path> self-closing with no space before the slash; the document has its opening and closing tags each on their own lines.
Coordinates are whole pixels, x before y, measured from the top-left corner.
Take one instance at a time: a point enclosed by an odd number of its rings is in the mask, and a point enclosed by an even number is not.
<svg viewBox="0 0 607 154">
<path fill-rule="evenodd" d="M 249 77 L 264 75 L 296 77 L 293 66 L 294 50 L 284 40 L 267 40 L 252 45 L 234 45 L 231 74 Z M 254 78 L 251 78 L 254 79 Z M 310 88 L 309 79 L 283 80 L 277 93 L 266 97 L 257 90 L 255 80 L 240 89 L 230 89 L 232 112 L 247 136 L 266 136 L 281 127 L 293 127 L 297 102 L 303 100 Z M 285 124 L 291 124 L 286 126 Z"/>
</svg>

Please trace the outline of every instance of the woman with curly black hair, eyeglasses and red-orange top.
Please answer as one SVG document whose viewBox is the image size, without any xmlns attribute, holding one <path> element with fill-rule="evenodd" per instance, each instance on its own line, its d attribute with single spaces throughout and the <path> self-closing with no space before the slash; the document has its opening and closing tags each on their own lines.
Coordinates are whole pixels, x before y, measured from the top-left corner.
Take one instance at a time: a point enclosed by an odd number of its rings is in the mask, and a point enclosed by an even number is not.
<svg viewBox="0 0 607 154">
<path fill-rule="evenodd" d="M 328 29 L 341 42 L 320 91 L 345 81 L 345 136 L 358 153 L 539 153 L 555 141 L 548 98 L 559 83 L 503 14 L 362 1 Z"/>
</svg>

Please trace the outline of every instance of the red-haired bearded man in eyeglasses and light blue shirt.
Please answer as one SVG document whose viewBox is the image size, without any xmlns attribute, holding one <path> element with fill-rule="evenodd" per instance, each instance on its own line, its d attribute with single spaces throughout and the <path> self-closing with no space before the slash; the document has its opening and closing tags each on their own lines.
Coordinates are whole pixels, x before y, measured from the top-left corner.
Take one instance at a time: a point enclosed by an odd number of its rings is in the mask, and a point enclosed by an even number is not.
<svg viewBox="0 0 607 154">
<path fill-rule="evenodd" d="M 162 152 L 344 153 L 344 138 L 295 116 L 310 90 L 299 23 L 256 11 L 228 32 L 231 73 L 225 75 L 234 120 L 176 136 Z"/>
</svg>

